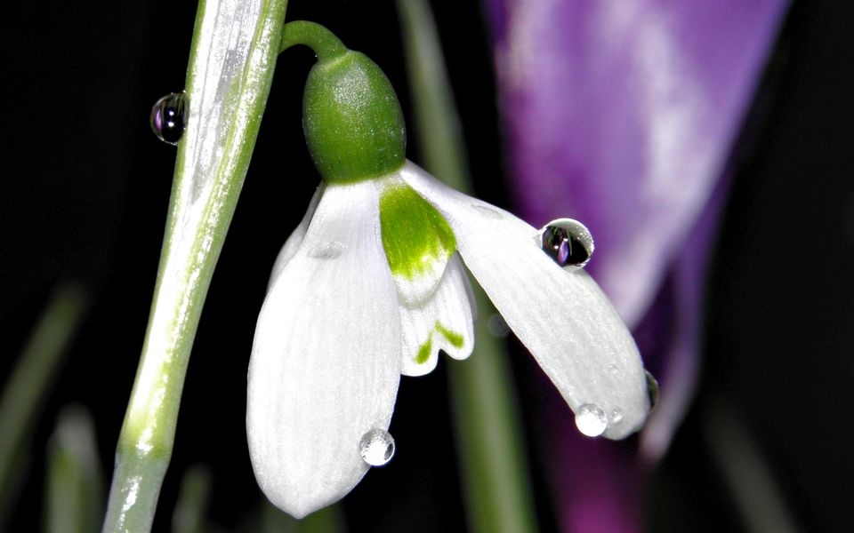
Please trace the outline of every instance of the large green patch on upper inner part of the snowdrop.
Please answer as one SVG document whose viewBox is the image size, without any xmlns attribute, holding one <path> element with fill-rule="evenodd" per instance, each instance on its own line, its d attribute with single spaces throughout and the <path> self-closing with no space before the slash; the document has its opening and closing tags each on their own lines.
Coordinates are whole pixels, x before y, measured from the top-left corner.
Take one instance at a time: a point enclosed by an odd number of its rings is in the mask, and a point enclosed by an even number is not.
<svg viewBox="0 0 854 533">
<path fill-rule="evenodd" d="M 389 187 L 380 196 L 383 248 L 391 274 L 406 279 L 431 272 L 456 250 L 447 220 L 408 185 Z"/>
</svg>

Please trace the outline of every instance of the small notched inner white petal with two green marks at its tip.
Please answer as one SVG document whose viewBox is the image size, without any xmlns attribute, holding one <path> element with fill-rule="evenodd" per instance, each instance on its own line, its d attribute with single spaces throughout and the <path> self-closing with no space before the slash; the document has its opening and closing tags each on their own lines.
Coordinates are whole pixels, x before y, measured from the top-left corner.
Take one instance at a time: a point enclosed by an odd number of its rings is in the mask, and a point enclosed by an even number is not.
<svg viewBox="0 0 854 533">
<path fill-rule="evenodd" d="M 474 346 L 474 298 L 457 254 L 447 262 L 436 292 L 423 306 L 400 303 L 404 376 L 423 376 L 436 368 L 439 350 L 455 359 Z"/>
</svg>

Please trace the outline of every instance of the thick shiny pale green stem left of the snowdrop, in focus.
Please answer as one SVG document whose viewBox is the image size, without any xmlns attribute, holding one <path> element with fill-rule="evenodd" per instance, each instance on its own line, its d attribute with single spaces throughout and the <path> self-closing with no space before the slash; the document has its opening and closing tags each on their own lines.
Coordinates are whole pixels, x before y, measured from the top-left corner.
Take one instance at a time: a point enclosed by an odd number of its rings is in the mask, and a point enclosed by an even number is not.
<svg viewBox="0 0 854 533">
<path fill-rule="evenodd" d="M 148 531 L 189 354 L 270 92 L 286 0 L 201 0 L 164 247 L 103 531 Z M 227 53 L 218 53 L 225 50 Z"/>
</svg>

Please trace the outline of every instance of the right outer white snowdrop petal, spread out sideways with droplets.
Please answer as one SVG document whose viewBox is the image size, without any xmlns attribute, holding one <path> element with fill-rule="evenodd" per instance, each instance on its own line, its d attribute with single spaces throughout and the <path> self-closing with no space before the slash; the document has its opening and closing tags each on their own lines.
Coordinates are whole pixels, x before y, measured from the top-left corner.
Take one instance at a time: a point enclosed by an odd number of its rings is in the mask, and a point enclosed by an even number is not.
<svg viewBox="0 0 854 533">
<path fill-rule="evenodd" d="M 536 245 L 537 230 L 511 213 L 412 163 L 401 175 L 447 217 L 466 266 L 576 416 L 598 407 L 608 418 L 604 436 L 637 431 L 649 413 L 641 356 L 596 282 L 558 267 Z"/>
</svg>

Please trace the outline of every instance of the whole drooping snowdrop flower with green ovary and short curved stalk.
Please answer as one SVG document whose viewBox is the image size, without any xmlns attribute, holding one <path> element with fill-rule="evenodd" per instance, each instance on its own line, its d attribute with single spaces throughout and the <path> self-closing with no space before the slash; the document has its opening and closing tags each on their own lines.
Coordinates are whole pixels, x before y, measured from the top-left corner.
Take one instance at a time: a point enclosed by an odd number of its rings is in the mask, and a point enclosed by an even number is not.
<svg viewBox="0 0 854 533">
<path fill-rule="evenodd" d="M 304 126 L 324 183 L 274 269 L 255 331 L 246 425 L 270 500 L 302 517 L 393 453 L 400 374 L 471 354 L 463 262 L 543 367 L 579 429 L 622 439 L 649 412 L 631 335 L 579 266 L 577 222 L 537 230 L 405 159 L 402 114 L 364 55 L 307 22 L 283 47 L 318 53 Z M 462 259 L 462 261 L 461 261 Z"/>
</svg>

